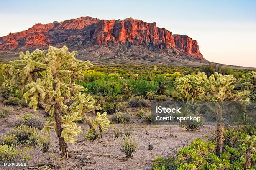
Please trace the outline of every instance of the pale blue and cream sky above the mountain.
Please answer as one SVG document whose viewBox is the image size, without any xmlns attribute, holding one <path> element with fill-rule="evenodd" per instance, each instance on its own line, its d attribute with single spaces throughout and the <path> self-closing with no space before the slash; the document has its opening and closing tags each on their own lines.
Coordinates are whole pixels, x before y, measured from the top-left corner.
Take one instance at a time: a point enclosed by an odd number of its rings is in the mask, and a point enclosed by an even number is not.
<svg viewBox="0 0 256 170">
<path fill-rule="evenodd" d="M 81 16 L 132 17 L 197 40 L 205 59 L 256 67 L 256 0 L 0 0 L 0 36 Z"/>
</svg>

